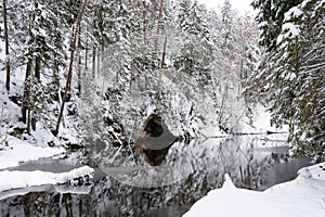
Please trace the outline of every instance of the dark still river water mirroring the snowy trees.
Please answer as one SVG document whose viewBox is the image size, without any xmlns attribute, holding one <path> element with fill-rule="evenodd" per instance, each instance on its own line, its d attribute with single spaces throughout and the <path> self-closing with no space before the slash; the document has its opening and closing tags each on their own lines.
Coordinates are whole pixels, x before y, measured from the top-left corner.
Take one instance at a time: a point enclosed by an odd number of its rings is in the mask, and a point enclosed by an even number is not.
<svg viewBox="0 0 325 217">
<path fill-rule="evenodd" d="M 64 159 L 25 163 L 22 170 L 69 170 Z M 98 168 L 93 183 L 0 192 L 0 216 L 182 216 L 230 174 L 239 188 L 264 190 L 294 179 L 308 159 L 290 159 L 281 141 L 258 137 L 173 144 L 157 167 Z M 17 169 L 17 168 L 13 168 Z"/>
</svg>

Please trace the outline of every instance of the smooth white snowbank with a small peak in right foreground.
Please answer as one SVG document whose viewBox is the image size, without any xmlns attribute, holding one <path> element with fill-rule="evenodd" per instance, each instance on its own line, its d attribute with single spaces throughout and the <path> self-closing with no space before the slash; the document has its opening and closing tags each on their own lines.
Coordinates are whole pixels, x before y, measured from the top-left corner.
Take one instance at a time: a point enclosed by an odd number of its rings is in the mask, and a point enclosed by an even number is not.
<svg viewBox="0 0 325 217">
<path fill-rule="evenodd" d="M 264 192 L 237 189 L 229 175 L 221 189 L 197 201 L 184 217 L 323 217 L 325 163 L 302 168 L 298 177 Z"/>
</svg>

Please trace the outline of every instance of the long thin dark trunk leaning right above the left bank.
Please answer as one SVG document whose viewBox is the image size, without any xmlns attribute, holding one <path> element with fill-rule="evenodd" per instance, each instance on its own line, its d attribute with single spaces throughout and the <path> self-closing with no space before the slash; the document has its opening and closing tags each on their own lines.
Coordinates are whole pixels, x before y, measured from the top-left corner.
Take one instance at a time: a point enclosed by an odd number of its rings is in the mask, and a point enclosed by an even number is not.
<svg viewBox="0 0 325 217">
<path fill-rule="evenodd" d="M 65 90 L 64 90 L 64 94 L 63 94 L 63 99 L 62 99 L 62 105 L 61 105 L 60 113 L 58 113 L 57 123 L 56 123 L 55 129 L 53 131 L 54 136 L 56 136 L 58 133 L 60 124 L 61 124 L 61 119 L 62 119 L 62 116 L 63 116 L 63 111 L 64 111 L 64 106 L 65 106 L 65 102 L 66 102 L 66 98 L 67 98 L 67 92 L 68 92 L 68 89 L 69 89 L 70 84 L 72 84 L 73 65 L 74 65 L 74 58 L 75 58 L 75 51 L 76 51 L 77 36 L 79 34 L 81 15 L 82 15 L 83 7 L 84 7 L 86 2 L 87 1 L 84 1 L 84 2 L 82 2 L 82 0 L 80 1 L 80 8 L 79 8 L 79 11 L 78 11 L 76 26 L 75 26 L 74 33 L 73 33 L 70 63 L 69 63 L 68 75 L 67 75 L 67 79 L 66 79 L 66 85 L 65 85 Z"/>
</svg>

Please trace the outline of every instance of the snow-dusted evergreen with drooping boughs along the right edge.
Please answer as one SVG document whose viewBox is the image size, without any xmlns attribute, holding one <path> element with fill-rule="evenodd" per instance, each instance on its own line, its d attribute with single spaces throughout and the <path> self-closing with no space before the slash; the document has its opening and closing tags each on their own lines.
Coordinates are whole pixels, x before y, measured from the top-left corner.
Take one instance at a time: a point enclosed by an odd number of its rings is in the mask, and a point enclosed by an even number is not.
<svg viewBox="0 0 325 217">
<path fill-rule="evenodd" d="M 306 0 L 280 17 L 276 47 L 269 44 L 263 72 L 256 77 L 268 84 L 260 91 L 266 95 L 272 123 L 289 125 L 296 153 L 314 159 L 325 156 L 324 7 Z"/>
</svg>

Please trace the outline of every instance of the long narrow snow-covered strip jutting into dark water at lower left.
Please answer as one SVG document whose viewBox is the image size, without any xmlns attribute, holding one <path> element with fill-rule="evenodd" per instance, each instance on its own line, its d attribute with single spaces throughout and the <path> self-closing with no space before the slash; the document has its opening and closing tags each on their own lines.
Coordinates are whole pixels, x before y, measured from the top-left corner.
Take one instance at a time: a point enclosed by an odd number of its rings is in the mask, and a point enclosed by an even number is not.
<svg viewBox="0 0 325 217">
<path fill-rule="evenodd" d="M 11 189 L 27 188 L 31 186 L 57 184 L 73 181 L 74 179 L 89 176 L 92 177 L 93 168 L 82 166 L 67 173 L 50 171 L 0 171 L 0 192 Z"/>
</svg>

